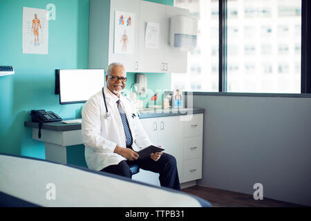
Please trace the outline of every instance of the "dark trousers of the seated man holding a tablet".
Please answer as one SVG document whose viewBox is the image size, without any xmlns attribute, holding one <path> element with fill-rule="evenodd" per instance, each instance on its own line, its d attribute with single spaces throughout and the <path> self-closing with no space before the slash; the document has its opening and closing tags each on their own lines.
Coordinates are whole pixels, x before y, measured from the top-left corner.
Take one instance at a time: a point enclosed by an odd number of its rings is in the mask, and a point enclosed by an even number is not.
<svg viewBox="0 0 311 221">
<path fill-rule="evenodd" d="M 168 153 L 163 153 L 158 161 L 152 160 L 150 157 L 145 160 L 131 161 L 131 164 L 137 164 L 145 171 L 152 171 L 159 173 L 159 180 L 161 186 L 169 187 L 172 189 L 180 190 L 180 182 L 177 171 L 176 158 Z M 126 160 L 121 161 L 117 165 L 107 166 L 102 169 L 104 172 L 114 173 L 125 177 L 132 177 L 131 169 Z"/>
</svg>

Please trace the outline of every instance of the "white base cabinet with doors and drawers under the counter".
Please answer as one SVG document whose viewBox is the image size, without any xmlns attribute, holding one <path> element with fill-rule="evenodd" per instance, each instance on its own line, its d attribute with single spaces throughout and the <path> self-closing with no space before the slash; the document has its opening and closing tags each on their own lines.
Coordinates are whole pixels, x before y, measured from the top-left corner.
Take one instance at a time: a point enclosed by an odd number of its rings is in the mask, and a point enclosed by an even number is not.
<svg viewBox="0 0 311 221">
<path fill-rule="evenodd" d="M 180 183 L 202 178 L 203 114 L 193 115 L 186 122 L 180 121 L 180 116 L 146 118 L 141 122 L 151 142 L 176 157 Z M 141 172 L 133 179 L 160 186 L 158 174 Z"/>
</svg>

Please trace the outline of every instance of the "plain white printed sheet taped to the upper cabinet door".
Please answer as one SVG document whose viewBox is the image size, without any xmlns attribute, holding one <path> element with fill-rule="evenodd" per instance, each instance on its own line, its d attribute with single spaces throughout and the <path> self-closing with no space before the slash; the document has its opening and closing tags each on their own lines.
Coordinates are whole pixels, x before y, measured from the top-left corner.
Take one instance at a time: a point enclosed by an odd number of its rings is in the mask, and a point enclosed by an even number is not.
<svg viewBox="0 0 311 221">
<path fill-rule="evenodd" d="M 159 48 L 160 23 L 147 22 L 146 33 L 144 35 L 145 48 Z"/>
</svg>

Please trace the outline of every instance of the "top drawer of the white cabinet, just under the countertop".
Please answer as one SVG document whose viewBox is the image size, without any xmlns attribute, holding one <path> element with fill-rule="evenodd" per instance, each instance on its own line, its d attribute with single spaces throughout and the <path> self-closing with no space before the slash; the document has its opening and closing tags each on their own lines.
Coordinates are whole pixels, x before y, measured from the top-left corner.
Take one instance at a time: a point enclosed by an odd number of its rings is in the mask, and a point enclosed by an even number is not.
<svg viewBox="0 0 311 221">
<path fill-rule="evenodd" d="M 189 122 L 185 122 L 185 137 L 200 136 L 203 134 L 203 114 L 193 115 Z"/>
</svg>

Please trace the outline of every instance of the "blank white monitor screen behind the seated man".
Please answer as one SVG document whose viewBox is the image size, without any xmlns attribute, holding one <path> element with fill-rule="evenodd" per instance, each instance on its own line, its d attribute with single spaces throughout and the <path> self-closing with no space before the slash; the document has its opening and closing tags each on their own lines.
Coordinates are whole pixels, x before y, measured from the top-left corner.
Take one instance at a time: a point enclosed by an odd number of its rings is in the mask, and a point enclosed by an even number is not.
<svg viewBox="0 0 311 221">
<path fill-rule="evenodd" d="M 59 70 L 59 104 L 85 103 L 104 86 L 104 69 Z"/>
</svg>

